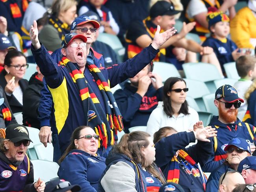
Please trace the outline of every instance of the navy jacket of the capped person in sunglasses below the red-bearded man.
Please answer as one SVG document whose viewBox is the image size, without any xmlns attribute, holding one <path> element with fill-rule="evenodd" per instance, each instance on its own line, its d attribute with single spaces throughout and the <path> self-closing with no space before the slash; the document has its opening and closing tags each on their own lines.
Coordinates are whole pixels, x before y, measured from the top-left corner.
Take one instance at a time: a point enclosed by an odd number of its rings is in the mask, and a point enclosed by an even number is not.
<svg viewBox="0 0 256 192">
<path fill-rule="evenodd" d="M 211 172 L 211 175 L 206 183 L 206 192 L 218 191 L 219 179 L 221 178 L 221 175 L 224 174 L 228 168 L 230 168 L 228 165 L 222 164 L 215 171 Z"/>
</svg>

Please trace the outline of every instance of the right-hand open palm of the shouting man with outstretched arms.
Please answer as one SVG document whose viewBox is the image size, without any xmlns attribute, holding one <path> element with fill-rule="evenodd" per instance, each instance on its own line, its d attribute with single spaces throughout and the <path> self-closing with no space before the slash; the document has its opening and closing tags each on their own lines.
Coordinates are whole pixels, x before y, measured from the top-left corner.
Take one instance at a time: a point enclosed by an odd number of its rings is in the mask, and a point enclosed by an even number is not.
<svg viewBox="0 0 256 192">
<path fill-rule="evenodd" d="M 160 33 L 160 26 L 157 26 L 157 30 L 152 42 L 152 47 L 154 49 L 159 49 L 161 45 L 163 45 L 168 39 L 170 39 L 171 36 L 173 36 L 176 33 L 177 30 L 174 30 L 174 27 L 172 27 L 169 30 L 164 31 L 163 33 Z"/>
</svg>

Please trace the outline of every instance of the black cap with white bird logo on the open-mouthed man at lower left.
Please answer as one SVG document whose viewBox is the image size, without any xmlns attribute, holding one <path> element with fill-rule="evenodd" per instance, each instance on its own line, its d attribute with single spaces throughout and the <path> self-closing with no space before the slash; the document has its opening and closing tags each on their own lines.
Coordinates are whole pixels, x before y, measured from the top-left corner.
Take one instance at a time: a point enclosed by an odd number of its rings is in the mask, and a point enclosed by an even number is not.
<svg viewBox="0 0 256 192">
<path fill-rule="evenodd" d="M 9 139 L 14 143 L 22 140 L 29 140 L 32 142 L 29 138 L 27 127 L 19 124 L 11 124 L 6 127 L 6 139 Z"/>
</svg>

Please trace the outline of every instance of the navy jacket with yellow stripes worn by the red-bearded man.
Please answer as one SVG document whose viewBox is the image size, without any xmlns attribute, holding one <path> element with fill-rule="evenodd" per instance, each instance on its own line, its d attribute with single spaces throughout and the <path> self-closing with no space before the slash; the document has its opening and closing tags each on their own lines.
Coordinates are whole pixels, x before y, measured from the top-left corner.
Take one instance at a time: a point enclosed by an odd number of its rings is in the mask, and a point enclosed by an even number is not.
<svg viewBox="0 0 256 192">
<path fill-rule="evenodd" d="M 217 137 L 211 138 L 213 151 L 208 162 L 204 165 L 203 170 L 205 172 L 213 172 L 223 164 L 227 157 L 224 148 L 232 138 L 241 137 L 250 142 L 254 142 L 254 144 L 256 143 L 256 128 L 254 126 L 241 122 L 238 118 L 234 124 L 223 124 L 218 118 L 219 116 L 213 116 L 209 125 L 216 128 L 218 133 Z"/>
</svg>

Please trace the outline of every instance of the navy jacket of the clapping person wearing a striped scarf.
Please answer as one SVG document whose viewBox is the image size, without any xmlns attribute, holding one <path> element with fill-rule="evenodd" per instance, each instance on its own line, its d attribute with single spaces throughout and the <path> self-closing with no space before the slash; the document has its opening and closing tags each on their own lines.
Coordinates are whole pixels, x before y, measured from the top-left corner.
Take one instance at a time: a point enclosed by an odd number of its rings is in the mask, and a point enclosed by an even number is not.
<svg viewBox="0 0 256 192">
<path fill-rule="evenodd" d="M 176 151 L 182 149 L 200 166 L 204 166 L 206 161 L 213 151 L 211 142 L 199 141 L 197 144 L 185 148 L 190 142 L 195 142 L 195 135 L 193 132 L 179 132 L 168 137 L 162 138 L 155 144 L 156 148 L 156 165 L 161 168 L 163 175 L 167 178 L 171 159 L 174 157 Z M 177 157 L 178 161 L 180 157 Z M 200 177 L 194 177 L 184 170 L 184 166 L 179 163 L 180 178 L 179 185 L 185 192 L 204 192 L 203 184 Z"/>
</svg>

